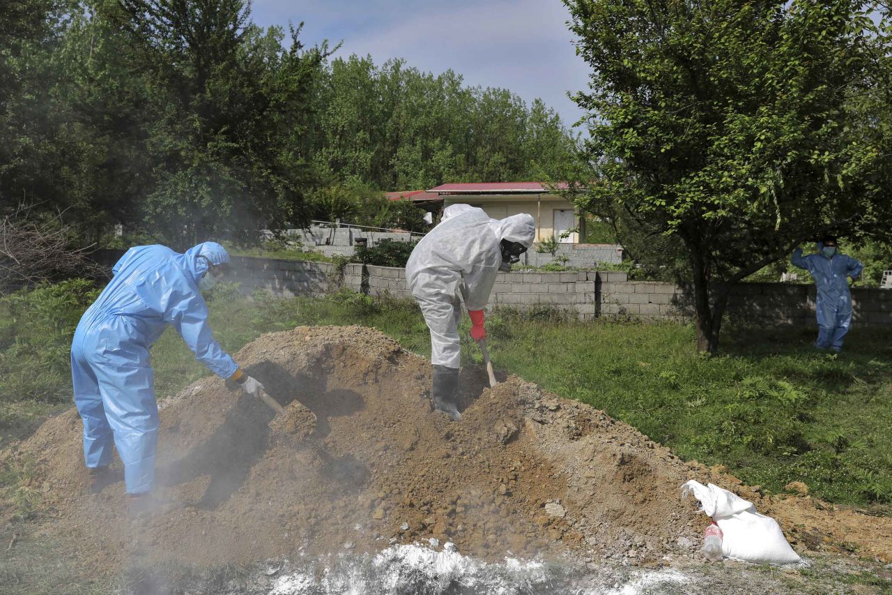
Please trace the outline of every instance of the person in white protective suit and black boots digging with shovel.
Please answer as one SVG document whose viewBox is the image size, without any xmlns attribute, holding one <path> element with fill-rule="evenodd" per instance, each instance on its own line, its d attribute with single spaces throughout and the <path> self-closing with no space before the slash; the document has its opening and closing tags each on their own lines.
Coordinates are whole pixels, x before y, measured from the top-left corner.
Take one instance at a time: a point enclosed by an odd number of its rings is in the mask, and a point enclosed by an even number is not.
<svg viewBox="0 0 892 595">
<path fill-rule="evenodd" d="M 483 308 L 490 298 L 496 274 L 507 272 L 535 239 L 535 222 L 529 214 L 491 219 L 482 209 L 451 205 L 442 222 L 412 250 L 406 264 L 406 281 L 431 331 L 434 408 L 461 419 L 458 412 L 460 346 L 458 291 L 471 317 L 471 337 L 485 339 Z"/>
</svg>

